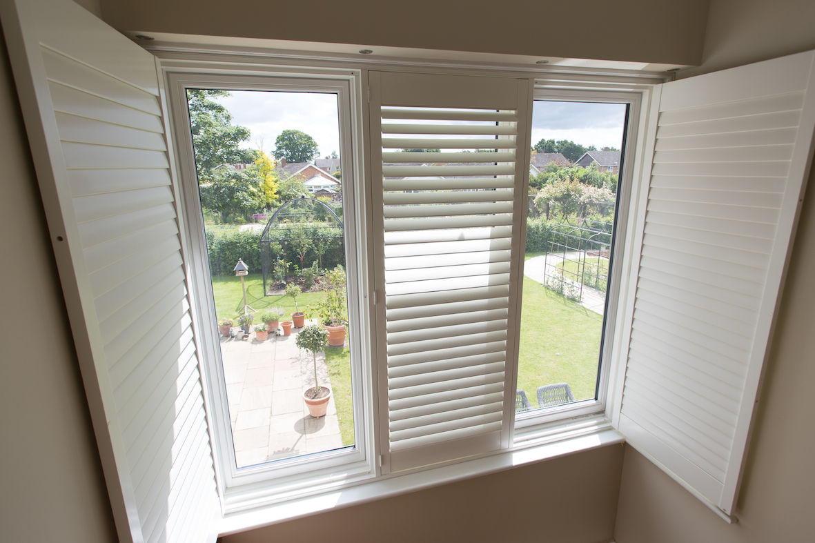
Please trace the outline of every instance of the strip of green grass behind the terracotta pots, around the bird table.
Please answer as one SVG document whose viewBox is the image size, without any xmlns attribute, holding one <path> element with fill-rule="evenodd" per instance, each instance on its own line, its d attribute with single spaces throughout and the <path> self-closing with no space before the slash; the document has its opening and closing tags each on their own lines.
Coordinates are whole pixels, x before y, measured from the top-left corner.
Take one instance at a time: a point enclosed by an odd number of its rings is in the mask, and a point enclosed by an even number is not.
<svg viewBox="0 0 815 543">
<path fill-rule="evenodd" d="M 262 313 L 269 307 L 280 307 L 286 315 L 294 312 L 294 301 L 291 296 L 263 296 L 263 278 L 259 273 L 245 276 L 246 303 L 252 309 Z M 214 276 L 212 292 L 215 298 L 215 316 L 218 320 L 234 319 L 244 307 L 243 293 L 240 290 L 240 277 Z M 320 302 L 325 298 L 323 292 L 305 292 L 297 296 L 297 307 L 305 311 L 306 306 Z M 257 321 L 257 317 L 255 318 Z M 287 319 L 282 319 L 287 320 Z"/>
</svg>

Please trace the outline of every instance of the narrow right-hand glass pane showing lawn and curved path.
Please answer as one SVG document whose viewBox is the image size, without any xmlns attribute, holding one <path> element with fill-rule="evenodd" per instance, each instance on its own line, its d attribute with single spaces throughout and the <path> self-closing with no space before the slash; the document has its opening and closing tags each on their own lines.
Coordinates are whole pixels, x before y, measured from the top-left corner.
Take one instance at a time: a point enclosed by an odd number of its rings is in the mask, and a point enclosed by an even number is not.
<svg viewBox="0 0 815 543">
<path fill-rule="evenodd" d="M 596 398 L 626 104 L 536 100 L 516 411 Z"/>
</svg>

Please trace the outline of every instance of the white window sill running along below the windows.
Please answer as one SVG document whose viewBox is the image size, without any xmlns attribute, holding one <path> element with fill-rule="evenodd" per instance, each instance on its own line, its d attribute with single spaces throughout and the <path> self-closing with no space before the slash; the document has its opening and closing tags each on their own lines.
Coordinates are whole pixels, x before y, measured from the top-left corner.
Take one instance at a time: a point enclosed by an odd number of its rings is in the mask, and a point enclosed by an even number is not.
<svg viewBox="0 0 815 543">
<path fill-rule="evenodd" d="M 370 475 L 350 476 L 344 480 L 329 483 L 333 488 L 319 493 L 227 513 L 221 520 L 218 532 L 221 536 L 227 536 L 310 514 L 398 496 L 462 479 L 509 470 L 533 462 L 619 444 L 623 441 L 623 435 L 611 427 L 606 417 L 582 418 L 557 425 L 549 430 L 535 432 L 534 435 L 519 437 L 512 450 L 488 457 L 378 479 L 372 479 Z M 236 492 L 231 498 L 239 501 L 240 495 Z"/>
</svg>

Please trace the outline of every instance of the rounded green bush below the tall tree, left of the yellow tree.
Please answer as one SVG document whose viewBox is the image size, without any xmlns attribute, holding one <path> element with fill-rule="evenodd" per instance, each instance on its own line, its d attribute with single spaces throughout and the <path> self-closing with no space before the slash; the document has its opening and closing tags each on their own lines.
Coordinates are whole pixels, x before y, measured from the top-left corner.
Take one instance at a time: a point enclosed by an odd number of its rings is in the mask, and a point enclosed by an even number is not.
<svg viewBox="0 0 815 543">
<path fill-rule="evenodd" d="M 248 216 L 262 209 L 263 192 L 254 177 L 246 170 L 223 171 L 209 183 L 200 186 L 201 205 L 221 215 L 226 222 L 230 215 Z"/>
</svg>

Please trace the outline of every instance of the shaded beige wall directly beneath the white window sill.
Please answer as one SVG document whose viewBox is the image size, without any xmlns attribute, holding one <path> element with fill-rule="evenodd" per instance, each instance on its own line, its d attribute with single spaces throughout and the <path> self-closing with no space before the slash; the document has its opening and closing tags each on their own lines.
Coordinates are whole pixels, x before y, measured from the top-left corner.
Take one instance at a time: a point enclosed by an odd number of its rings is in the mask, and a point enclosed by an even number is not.
<svg viewBox="0 0 815 543">
<path fill-rule="evenodd" d="M 599 448 L 220 541 L 605 543 L 614 528 L 622 459 L 621 445 Z"/>
</svg>

